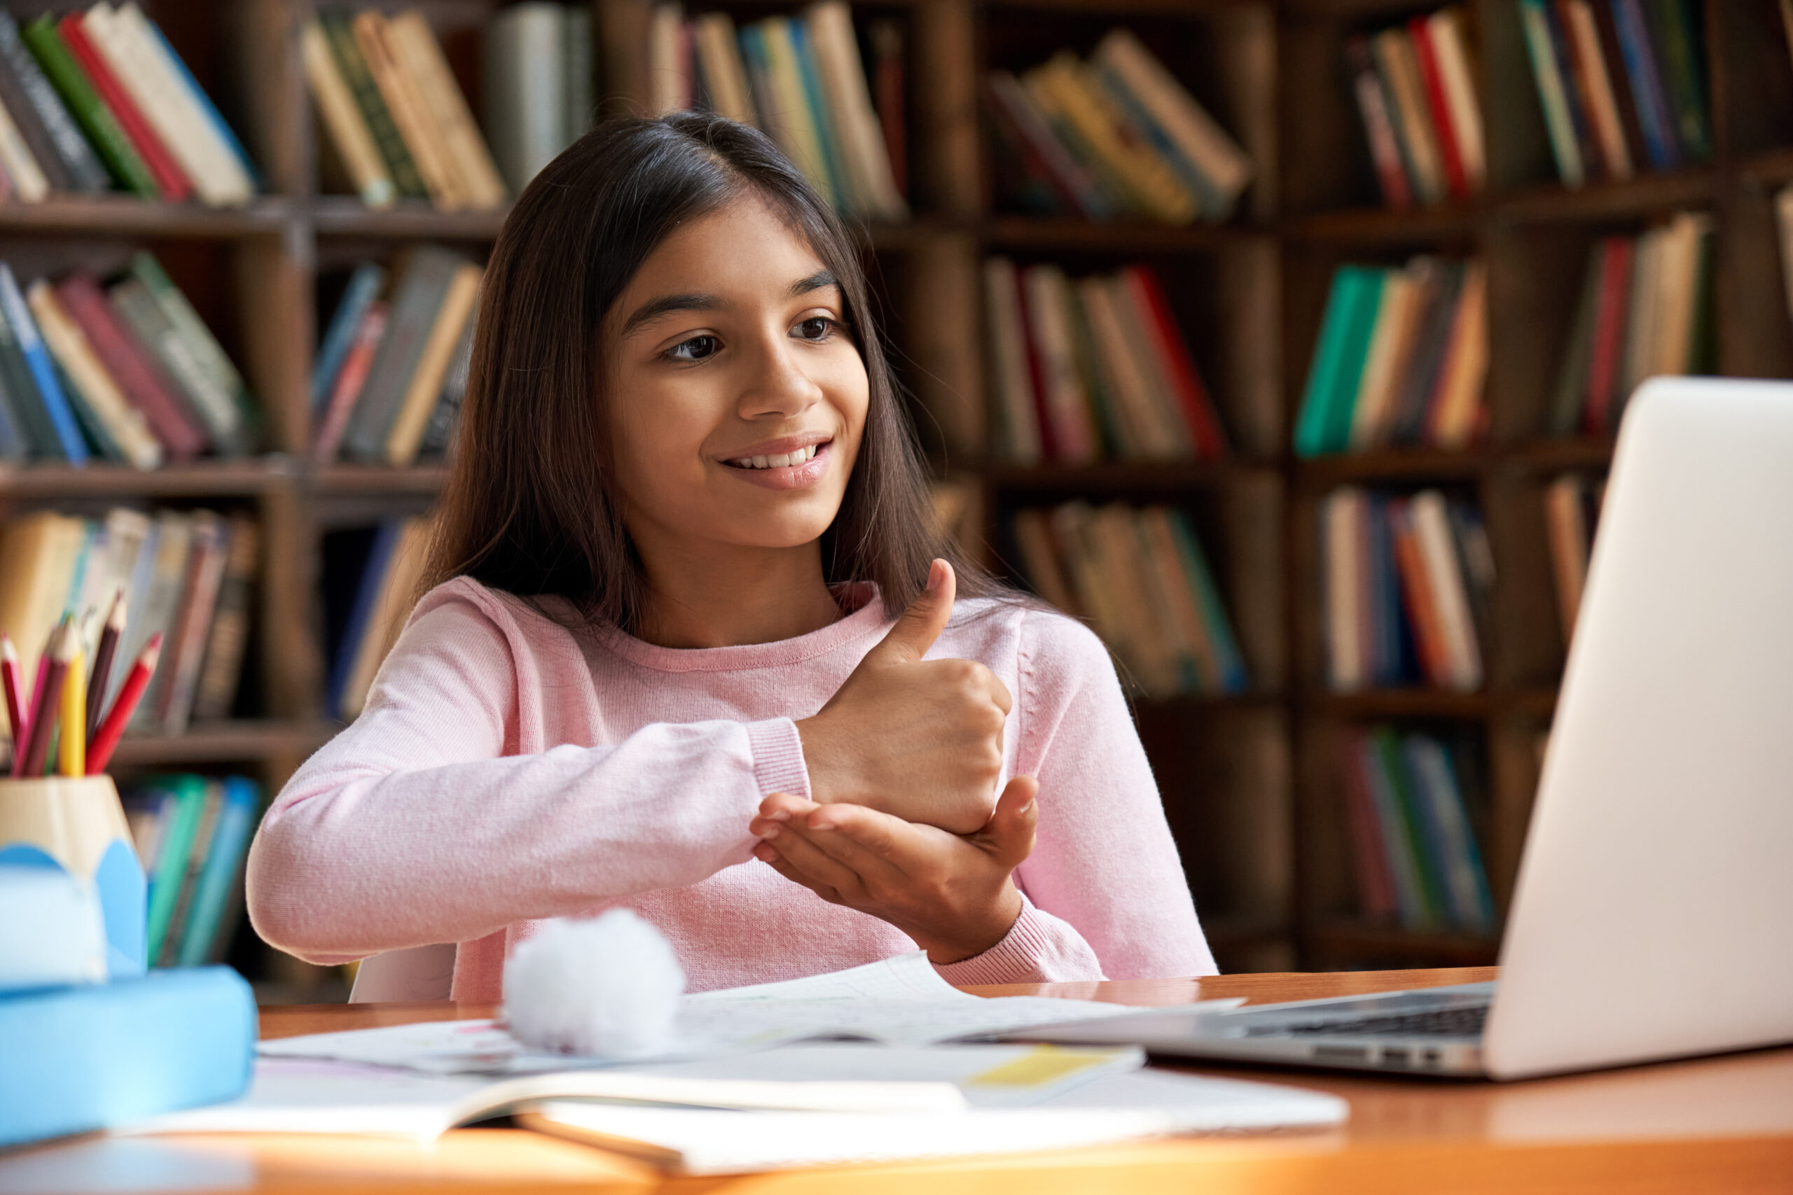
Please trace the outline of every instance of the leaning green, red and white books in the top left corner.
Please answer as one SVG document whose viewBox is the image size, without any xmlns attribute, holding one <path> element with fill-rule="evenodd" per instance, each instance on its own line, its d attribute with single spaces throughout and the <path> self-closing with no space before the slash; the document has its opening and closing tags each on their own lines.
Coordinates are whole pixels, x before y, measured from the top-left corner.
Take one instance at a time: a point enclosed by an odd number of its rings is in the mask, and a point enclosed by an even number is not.
<svg viewBox="0 0 1793 1195">
<path fill-rule="evenodd" d="M 23 29 L 0 11 L 0 190 L 126 190 L 246 204 L 255 168 L 161 29 L 133 2 Z"/>
</svg>

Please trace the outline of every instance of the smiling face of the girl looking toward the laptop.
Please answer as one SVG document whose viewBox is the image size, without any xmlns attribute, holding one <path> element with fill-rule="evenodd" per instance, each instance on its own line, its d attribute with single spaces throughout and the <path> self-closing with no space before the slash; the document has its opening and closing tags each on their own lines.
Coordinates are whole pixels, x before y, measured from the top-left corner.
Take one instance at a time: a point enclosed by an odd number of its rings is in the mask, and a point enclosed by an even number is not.
<svg viewBox="0 0 1793 1195">
<path fill-rule="evenodd" d="M 755 193 L 680 226 L 604 317 L 624 523 L 658 550 L 827 530 L 870 382 L 839 285 Z"/>
</svg>

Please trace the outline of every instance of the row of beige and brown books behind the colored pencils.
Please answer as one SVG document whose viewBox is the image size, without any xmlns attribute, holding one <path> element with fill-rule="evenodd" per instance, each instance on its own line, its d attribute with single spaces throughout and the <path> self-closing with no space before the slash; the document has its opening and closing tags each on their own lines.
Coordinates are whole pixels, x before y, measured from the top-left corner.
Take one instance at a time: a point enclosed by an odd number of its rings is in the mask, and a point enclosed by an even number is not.
<svg viewBox="0 0 1793 1195">
<path fill-rule="evenodd" d="M 124 593 L 117 659 L 136 659 L 163 636 L 129 729 L 179 735 L 192 720 L 228 718 L 237 704 L 258 563 L 260 529 L 247 516 L 129 507 L 104 518 L 22 514 L 0 530 L 0 631 L 18 647 L 25 677 L 36 675 L 63 615 L 75 618 L 91 659 Z M 124 679 L 126 668 L 115 668 L 108 704 Z"/>
</svg>

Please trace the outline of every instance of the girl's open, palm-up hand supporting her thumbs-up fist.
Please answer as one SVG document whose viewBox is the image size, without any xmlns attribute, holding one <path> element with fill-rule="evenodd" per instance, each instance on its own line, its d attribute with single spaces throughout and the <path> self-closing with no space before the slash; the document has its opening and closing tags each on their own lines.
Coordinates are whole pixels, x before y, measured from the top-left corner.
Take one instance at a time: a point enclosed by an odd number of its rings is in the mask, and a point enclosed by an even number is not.
<svg viewBox="0 0 1793 1195">
<path fill-rule="evenodd" d="M 1015 926 L 1013 871 L 1033 853 L 1040 783 L 1017 776 L 983 830 L 954 835 L 862 804 L 816 804 L 785 792 L 760 803 L 753 856 L 832 905 L 891 923 L 932 962 L 981 955 Z"/>
</svg>

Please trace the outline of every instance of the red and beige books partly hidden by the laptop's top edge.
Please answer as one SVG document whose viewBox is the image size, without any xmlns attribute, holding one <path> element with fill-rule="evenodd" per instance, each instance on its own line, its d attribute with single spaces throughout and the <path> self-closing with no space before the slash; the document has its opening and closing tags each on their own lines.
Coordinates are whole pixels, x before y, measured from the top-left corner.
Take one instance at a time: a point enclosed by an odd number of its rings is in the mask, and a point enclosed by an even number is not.
<svg viewBox="0 0 1793 1195">
<path fill-rule="evenodd" d="M 1556 376 L 1551 435 L 1610 435 L 1644 378 L 1716 367 L 1716 254 L 1703 211 L 1594 244 Z"/>
</svg>

